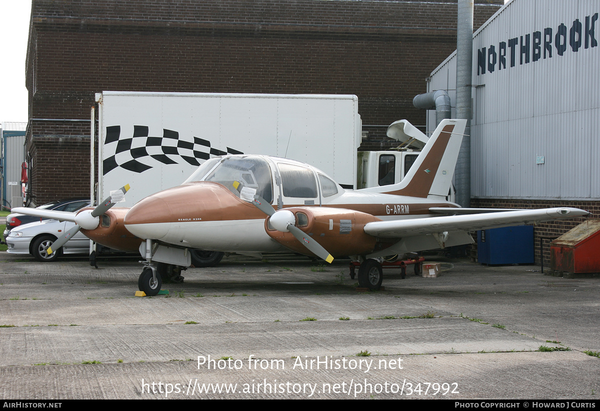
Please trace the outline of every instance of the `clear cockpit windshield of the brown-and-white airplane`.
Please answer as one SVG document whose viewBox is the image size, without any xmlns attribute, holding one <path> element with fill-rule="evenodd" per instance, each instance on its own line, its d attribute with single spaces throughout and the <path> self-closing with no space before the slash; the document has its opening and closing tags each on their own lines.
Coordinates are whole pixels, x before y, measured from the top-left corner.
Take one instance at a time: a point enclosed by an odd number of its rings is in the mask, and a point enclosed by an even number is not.
<svg viewBox="0 0 600 411">
<path fill-rule="evenodd" d="M 194 181 L 221 183 L 242 200 L 251 201 L 256 194 L 268 203 L 273 201 L 271 167 L 259 156 L 210 159 L 185 182 Z"/>
</svg>

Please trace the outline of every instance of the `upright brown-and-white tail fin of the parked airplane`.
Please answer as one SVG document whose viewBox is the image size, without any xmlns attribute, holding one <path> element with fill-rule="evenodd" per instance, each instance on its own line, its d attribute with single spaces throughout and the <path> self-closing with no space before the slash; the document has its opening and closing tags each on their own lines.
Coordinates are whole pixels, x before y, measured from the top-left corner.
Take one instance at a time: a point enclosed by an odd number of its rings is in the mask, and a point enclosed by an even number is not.
<svg viewBox="0 0 600 411">
<path fill-rule="evenodd" d="M 467 120 L 445 119 L 437 126 L 404 179 L 365 191 L 427 198 L 448 195 Z"/>
</svg>

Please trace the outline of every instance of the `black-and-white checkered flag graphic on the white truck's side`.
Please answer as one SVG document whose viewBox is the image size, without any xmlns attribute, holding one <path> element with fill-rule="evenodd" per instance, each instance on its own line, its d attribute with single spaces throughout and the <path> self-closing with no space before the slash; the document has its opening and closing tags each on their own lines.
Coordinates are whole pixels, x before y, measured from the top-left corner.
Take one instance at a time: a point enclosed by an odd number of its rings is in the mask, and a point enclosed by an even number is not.
<svg viewBox="0 0 600 411">
<path fill-rule="evenodd" d="M 122 137 L 121 126 L 108 126 L 104 146 L 109 144 L 116 144 L 116 149 L 115 155 L 104 159 L 104 175 L 118 167 L 142 173 L 152 168 L 152 159 L 162 164 L 179 164 L 183 160 L 198 166 L 199 160 L 208 160 L 211 155 L 243 154 L 230 147 L 227 151 L 215 149 L 210 141 L 203 138 L 184 140 L 173 130 L 163 129 L 163 137 L 151 137 L 148 126 L 133 126 L 132 137 Z"/>
</svg>

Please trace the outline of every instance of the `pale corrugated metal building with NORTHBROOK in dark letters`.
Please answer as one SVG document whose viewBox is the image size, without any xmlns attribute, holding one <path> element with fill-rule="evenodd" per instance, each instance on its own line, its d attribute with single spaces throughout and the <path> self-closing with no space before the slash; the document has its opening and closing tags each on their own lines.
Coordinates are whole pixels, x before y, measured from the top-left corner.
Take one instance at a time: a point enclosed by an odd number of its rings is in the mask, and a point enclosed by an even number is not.
<svg viewBox="0 0 600 411">
<path fill-rule="evenodd" d="M 598 216 L 599 12 L 598 0 L 512 0 L 473 34 L 472 207 L 570 205 Z M 453 53 L 427 83 L 453 106 L 455 73 Z M 433 129 L 433 111 L 427 122 Z M 574 224 L 536 228 L 545 255 Z"/>
</svg>

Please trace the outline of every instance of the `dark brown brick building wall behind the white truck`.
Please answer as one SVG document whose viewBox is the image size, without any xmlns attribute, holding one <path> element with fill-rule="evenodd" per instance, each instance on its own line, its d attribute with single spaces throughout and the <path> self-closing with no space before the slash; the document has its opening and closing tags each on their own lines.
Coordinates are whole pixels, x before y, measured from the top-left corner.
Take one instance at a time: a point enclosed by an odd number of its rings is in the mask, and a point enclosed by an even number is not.
<svg viewBox="0 0 600 411">
<path fill-rule="evenodd" d="M 478 27 L 503 2 L 476 3 Z M 455 49 L 456 9 L 456 0 L 35 0 L 30 117 L 88 119 L 103 90 L 356 94 L 369 131 L 361 149 L 386 149 L 385 127 L 372 126 L 424 124 L 412 98 Z M 89 135 L 77 122 L 38 120 L 29 129 L 39 175 L 70 162 Z M 49 155 L 38 144 L 52 135 L 63 143 Z M 80 166 L 88 170 L 86 161 Z M 67 180 L 79 184 L 76 174 Z M 38 203 L 64 191 L 45 183 L 32 181 Z"/>
</svg>

